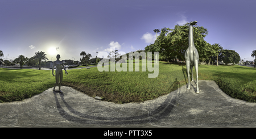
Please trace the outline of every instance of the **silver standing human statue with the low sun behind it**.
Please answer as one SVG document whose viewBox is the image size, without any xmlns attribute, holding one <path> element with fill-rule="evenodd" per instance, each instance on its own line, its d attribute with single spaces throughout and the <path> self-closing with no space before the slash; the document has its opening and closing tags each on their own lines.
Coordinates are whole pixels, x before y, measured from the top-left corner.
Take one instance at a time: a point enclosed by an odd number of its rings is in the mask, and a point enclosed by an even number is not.
<svg viewBox="0 0 256 139">
<path fill-rule="evenodd" d="M 52 75 L 53 76 L 55 76 L 53 74 L 53 69 L 54 69 L 54 66 L 56 66 L 56 70 L 55 70 L 56 83 L 55 83 L 55 86 L 53 87 L 53 91 L 55 91 L 56 85 L 59 85 L 59 92 L 63 93 L 63 91 L 60 90 L 60 85 L 61 85 L 61 82 L 62 82 L 62 79 L 63 79 L 63 72 L 62 72 L 61 66 L 63 66 L 64 70 L 66 71 L 66 75 L 68 75 L 68 73 L 67 73 L 67 70 L 65 69 L 65 66 L 63 65 L 63 62 L 60 61 L 60 54 L 57 54 L 56 58 L 57 58 L 57 60 L 54 61 L 53 64 L 52 64 Z M 59 82 L 59 77 L 60 77 L 60 82 Z"/>
</svg>

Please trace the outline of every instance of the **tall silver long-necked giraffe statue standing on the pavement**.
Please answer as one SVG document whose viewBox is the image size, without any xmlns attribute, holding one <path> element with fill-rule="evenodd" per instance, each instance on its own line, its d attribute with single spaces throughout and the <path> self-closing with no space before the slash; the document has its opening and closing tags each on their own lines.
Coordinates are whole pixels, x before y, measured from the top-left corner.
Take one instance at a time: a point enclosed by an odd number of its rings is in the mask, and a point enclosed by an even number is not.
<svg viewBox="0 0 256 139">
<path fill-rule="evenodd" d="M 185 62 L 187 66 L 187 73 L 188 73 L 188 90 L 190 90 L 190 76 L 189 76 L 189 68 L 191 69 L 191 74 L 192 74 L 192 82 L 194 81 L 193 78 L 193 66 L 195 66 L 196 70 L 196 93 L 199 93 L 199 87 L 198 87 L 198 62 L 199 62 L 199 54 L 197 52 L 197 49 L 194 45 L 193 41 L 193 25 L 195 25 L 197 21 L 193 21 L 189 24 L 189 33 L 188 33 L 188 49 L 185 52 Z"/>
</svg>

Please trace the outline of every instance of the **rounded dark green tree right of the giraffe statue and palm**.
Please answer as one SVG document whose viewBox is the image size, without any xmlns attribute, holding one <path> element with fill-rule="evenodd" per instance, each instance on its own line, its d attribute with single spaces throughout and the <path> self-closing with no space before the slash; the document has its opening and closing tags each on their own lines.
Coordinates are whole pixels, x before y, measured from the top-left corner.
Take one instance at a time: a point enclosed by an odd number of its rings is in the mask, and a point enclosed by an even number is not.
<svg viewBox="0 0 256 139">
<path fill-rule="evenodd" d="M 223 60 L 223 62 L 228 65 L 228 63 L 237 64 L 241 57 L 235 50 L 222 50 L 222 53 L 220 54 L 220 59 Z"/>
</svg>

